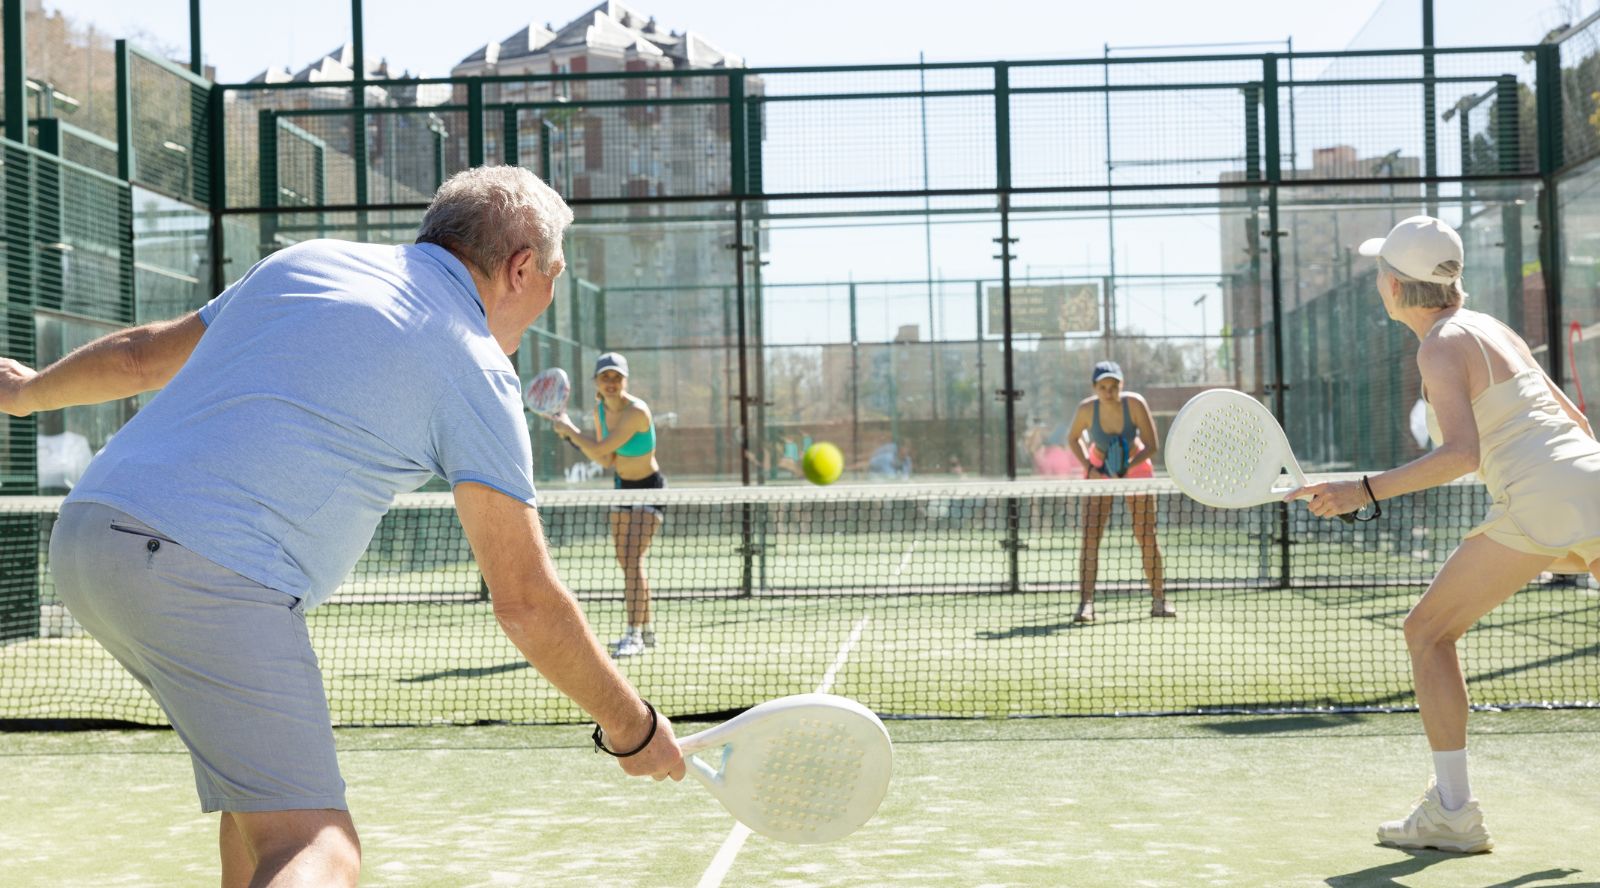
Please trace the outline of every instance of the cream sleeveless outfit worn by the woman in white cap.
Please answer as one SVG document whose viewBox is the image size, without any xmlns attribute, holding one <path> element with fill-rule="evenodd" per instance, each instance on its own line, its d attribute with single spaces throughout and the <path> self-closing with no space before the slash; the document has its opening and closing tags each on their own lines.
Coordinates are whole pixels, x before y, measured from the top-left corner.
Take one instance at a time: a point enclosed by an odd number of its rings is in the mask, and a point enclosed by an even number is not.
<svg viewBox="0 0 1600 888">
<path fill-rule="evenodd" d="M 1467 323 L 1477 317 L 1462 310 L 1434 325 L 1456 323 L 1467 331 L 1490 371 L 1490 386 L 1472 398 L 1472 418 L 1478 426 L 1478 478 L 1493 504 L 1467 536 L 1485 533 L 1510 549 L 1554 558 L 1570 552 L 1584 563 L 1600 558 L 1600 443 L 1566 416 L 1541 368 L 1494 381 L 1488 350 Z M 1427 432 L 1443 443 L 1432 405 Z M 1566 568 L 1586 570 L 1576 563 Z"/>
</svg>

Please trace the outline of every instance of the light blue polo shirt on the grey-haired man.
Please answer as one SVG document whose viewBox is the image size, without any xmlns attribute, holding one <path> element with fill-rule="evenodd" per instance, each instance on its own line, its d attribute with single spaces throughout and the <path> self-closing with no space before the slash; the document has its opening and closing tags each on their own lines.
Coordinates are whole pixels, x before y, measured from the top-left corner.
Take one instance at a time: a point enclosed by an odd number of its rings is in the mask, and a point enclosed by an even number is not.
<svg viewBox="0 0 1600 888">
<path fill-rule="evenodd" d="M 315 606 L 430 475 L 533 504 L 520 382 L 434 245 L 314 240 L 200 309 L 189 362 L 67 502 L 102 502 Z"/>
</svg>

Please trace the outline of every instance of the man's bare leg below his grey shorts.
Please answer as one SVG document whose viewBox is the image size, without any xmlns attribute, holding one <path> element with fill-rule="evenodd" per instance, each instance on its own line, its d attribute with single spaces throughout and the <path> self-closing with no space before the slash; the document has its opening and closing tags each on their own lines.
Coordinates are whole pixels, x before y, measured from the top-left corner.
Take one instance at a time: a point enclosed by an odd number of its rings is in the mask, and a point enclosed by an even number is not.
<svg viewBox="0 0 1600 888">
<path fill-rule="evenodd" d="M 230 877 L 237 877 L 240 850 L 248 856 L 251 872 L 248 882 L 230 882 Z M 355 837 L 355 822 L 350 821 L 349 811 L 230 811 L 222 814 L 222 883 L 226 886 L 354 886 L 360 872 L 362 843 Z"/>
</svg>

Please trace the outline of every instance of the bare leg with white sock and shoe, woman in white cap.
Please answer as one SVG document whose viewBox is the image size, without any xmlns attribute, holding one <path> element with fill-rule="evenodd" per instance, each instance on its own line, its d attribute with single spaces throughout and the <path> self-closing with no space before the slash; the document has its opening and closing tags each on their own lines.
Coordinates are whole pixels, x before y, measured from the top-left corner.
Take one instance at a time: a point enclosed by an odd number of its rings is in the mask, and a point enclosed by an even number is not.
<svg viewBox="0 0 1600 888">
<path fill-rule="evenodd" d="M 1378 827 L 1381 843 L 1445 851 L 1493 848 L 1467 781 L 1469 701 L 1456 640 L 1549 565 L 1549 555 L 1530 555 L 1482 534 L 1470 536 L 1411 608 L 1405 640 L 1435 776 L 1411 816 Z"/>
</svg>

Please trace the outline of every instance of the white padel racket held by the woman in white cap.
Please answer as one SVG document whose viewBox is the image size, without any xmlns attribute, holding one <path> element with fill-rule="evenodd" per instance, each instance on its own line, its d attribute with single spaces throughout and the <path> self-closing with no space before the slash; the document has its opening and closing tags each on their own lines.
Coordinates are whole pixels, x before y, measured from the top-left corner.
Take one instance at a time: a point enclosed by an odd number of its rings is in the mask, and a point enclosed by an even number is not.
<svg viewBox="0 0 1600 888">
<path fill-rule="evenodd" d="M 1282 502 L 1309 483 L 1272 411 L 1234 389 L 1189 398 L 1166 430 L 1162 453 L 1179 490 L 1216 509 Z M 1339 518 L 1355 522 L 1354 514 Z"/>
</svg>

